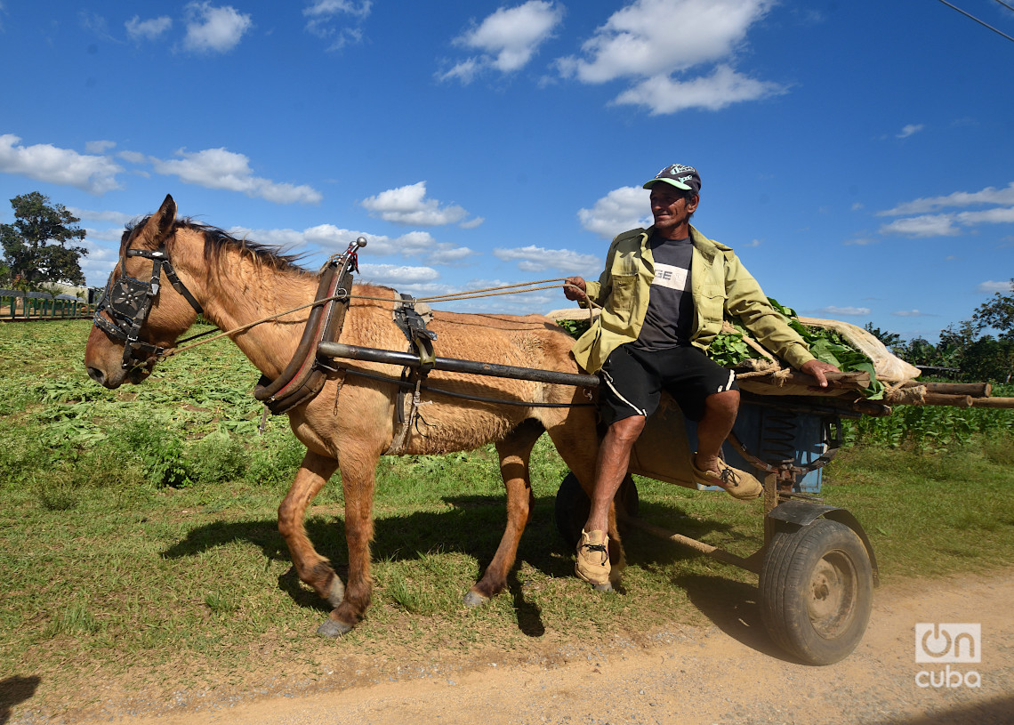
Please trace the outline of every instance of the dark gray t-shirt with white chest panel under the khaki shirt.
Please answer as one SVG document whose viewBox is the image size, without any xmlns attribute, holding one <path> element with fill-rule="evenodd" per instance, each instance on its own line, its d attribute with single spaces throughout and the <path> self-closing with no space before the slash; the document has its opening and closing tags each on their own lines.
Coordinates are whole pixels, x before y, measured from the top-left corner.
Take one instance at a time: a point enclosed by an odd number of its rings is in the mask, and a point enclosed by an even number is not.
<svg viewBox="0 0 1014 725">
<path fill-rule="evenodd" d="M 644 325 L 633 347 L 666 350 L 691 344 L 694 297 L 691 294 L 691 262 L 694 244 L 685 239 L 663 239 L 652 235 L 648 242 L 655 260 Z"/>
</svg>

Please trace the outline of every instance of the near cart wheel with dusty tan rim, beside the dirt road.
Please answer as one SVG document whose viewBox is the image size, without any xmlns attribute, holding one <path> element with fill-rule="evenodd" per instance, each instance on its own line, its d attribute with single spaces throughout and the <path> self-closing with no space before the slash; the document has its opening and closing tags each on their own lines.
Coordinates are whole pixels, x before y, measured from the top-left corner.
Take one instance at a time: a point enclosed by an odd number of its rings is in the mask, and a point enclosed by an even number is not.
<svg viewBox="0 0 1014 725">
<path fill-rule="evenodd" d="M 855 531 L 819 518 L 772 537 L 760 570 L 760 612 L 772 639 L 810 664 L 856 649 L 873 607 L 870 558 Z"/>
</svg>

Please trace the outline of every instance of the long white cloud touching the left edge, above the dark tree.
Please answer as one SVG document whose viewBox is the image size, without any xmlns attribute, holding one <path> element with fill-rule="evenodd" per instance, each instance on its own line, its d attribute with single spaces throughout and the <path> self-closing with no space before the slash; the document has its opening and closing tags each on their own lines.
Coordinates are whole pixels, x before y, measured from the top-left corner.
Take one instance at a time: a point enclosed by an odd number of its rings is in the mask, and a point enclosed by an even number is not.
<svg viewBox="0 0 1014 725">
<path fill-rule="evenodd" d="M 13 134 L 0 135 L 0 172 L 76 187 L 96 196 L 120 189 L 117 174 L 124 169 L 104 156 L 80 154 L 52 144 L 21 146 L 20 141 Z"/>
</svg>

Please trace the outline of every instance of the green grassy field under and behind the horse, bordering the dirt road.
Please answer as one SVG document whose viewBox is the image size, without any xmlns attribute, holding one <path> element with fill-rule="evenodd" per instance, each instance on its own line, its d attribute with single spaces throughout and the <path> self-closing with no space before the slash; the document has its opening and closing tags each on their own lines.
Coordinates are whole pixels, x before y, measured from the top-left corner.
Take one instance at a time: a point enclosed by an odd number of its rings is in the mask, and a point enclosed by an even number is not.
<svg viewBox="0 0 1014 725">
<path fill-rule="evenodd" d="M 488 648 L 541 657 L 708 624 L 755 600 L 754 575 L 639 531 L 625 538 L 625 590 L 590 592 L 553 523 L 566 469 L 544 438 L 507 591 L 478 610 L 461 603 L 506 517 L 492 447 L 385 458 L 373 603 L 341 641 L 314 638 L 328 607 L 291 571 L 275 521 L 302 452 L 282 420 L 256 435 L 256 371 L 234 349 L 208 346 L 142 386 L 107 391 L 81 369 L 87 332 L 80 321 L 0 325 L 0 672 L 39 678 L 37 712 L 97 703 L 106 680 L 167 698 L 329 671 L 355 679 Z M 942 452 L 855 446 L 824 469 L 823 493 L 863 523 L 885 582 L 989 571 L 1014 559 L 1011 443 L 996 434 Z M 756 506 L 651 480 L 638 488 L 653 523 L 740 556 L 760 545 Z M 342 503 L 336 480 L 307 529 L 344 576 Z"/>
</svg>

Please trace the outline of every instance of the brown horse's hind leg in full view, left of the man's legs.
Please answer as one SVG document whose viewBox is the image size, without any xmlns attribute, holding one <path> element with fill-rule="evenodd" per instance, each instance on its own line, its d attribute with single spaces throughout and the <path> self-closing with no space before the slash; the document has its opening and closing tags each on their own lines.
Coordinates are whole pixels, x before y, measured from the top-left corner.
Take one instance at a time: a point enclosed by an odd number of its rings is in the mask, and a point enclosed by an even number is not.
<svg viewBox="0 0 1014 725">
<path fill-rule="evenodd" d="M 507 586 L 507 572 L 514 566 L 521 533 L 535 504 L 528 478 L 528 456 L 545 431 L 540 423 L 529 419 L 496 444 L 500 454 L 500 474 L 507 489 L 507 528 L 493 561 L 486 568 L 486 574 L 464 595 L 464 603 L 468 606 L 485 604 Z"/>
</svg>

